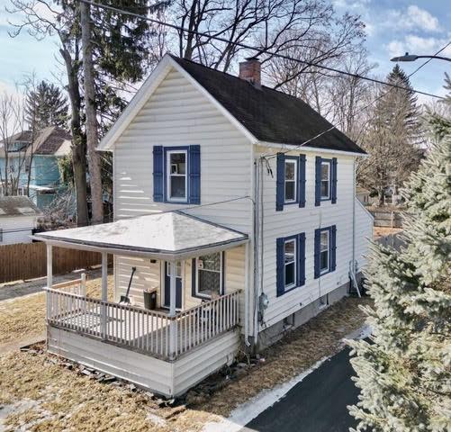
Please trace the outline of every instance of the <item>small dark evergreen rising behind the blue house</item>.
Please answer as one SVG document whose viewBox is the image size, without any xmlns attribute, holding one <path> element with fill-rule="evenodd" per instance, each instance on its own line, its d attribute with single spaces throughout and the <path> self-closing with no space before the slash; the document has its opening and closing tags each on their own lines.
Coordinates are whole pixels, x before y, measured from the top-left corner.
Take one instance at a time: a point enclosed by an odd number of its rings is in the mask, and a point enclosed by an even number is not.
<svg viewBox="0 0 451 432">
<path fill-rule="evenodd" d="M 68 99 L 57 85 L 41 81 L 26 97 L 26 120 L 32 130 L 68 128 Z"/>
</svg>

